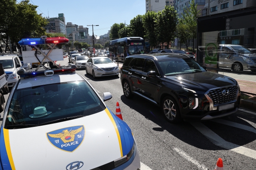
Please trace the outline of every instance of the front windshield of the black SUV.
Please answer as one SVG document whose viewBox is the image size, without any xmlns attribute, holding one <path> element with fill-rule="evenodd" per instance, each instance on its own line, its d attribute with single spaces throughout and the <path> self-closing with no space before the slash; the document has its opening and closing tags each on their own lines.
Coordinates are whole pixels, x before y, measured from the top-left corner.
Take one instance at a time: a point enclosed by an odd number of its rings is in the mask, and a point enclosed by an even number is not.
<svg viewBox="0 0 256 170">
<path fill-rule="evenodd" d="M 180 75 L 206 71 L 196 61 L 190 58 L 174 58 L 158 61 L 164 75 Z"/>
</svg>

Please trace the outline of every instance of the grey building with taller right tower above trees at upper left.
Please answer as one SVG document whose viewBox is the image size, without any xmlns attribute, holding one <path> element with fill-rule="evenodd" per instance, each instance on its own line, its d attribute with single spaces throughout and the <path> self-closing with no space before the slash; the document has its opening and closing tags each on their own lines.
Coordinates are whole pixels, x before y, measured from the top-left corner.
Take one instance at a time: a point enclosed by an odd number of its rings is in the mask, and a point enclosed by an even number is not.
<svg viewBox="0 0 256 170">
<path fill-rule="evenodd" d="M 66 22 L 64 14 L 58 14 L 58 17 L 46 18 L 46 20 L 49 22 L 46 27 L 43 27 L 46 29 L 46 32 L 61 32 L 66 34 Z"/>
</svg>

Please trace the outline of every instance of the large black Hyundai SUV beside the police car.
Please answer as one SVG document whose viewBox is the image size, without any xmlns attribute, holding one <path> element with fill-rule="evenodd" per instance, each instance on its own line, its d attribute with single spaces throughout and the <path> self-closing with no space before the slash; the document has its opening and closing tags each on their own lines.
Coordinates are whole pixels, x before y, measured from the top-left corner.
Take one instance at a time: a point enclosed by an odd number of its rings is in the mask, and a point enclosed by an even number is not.
<svg viewBox="0 0 256 170">
<path fill-rule="evenodd" d="M 121 83 L 126 98 L 148 99 L 170 122 L 224 117 L 240 104 L 236 80 L 206 71 L 183 54 L 130 55 L 121 67 Z"/>
</svg>

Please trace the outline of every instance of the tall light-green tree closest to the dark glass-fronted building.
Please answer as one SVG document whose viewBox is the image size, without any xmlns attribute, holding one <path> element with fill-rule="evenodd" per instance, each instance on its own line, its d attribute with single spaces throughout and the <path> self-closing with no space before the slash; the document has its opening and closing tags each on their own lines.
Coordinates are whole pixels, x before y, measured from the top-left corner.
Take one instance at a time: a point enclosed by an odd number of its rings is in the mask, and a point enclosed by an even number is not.
<svg viewBox="0 0 256 170">
<path fill-rule="evenodd" d="M 188 25 L 188 32 L 192 35 L 193 39 L 193 50 L 195 49 L 194 39 L 196 38 L 197 32 L 197 18 L 201 15 L 199 14 L 201 10 L 197 10 L 197 4 L 192 0 L 189 2 L 190 8 L 184 8 L 184 13 L 182 14 L 181 22 Z"/>
</svg>

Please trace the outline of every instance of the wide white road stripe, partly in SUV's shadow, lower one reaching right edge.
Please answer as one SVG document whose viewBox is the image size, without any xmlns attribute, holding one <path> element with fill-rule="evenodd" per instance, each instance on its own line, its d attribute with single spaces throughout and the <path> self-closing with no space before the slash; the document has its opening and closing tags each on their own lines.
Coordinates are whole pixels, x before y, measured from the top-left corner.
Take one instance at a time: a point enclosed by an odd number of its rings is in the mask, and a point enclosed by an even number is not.
<svg viewBox="0 0 256 170">
<path fill-rule="evenodd" d="M 199 132 L 201 132 L 206 138 L 208 138 L 213 144 L 220 146 L 222 148 L 232 150 L 233 152 L 243 154 L 250 158 L 256 159 L 256 151 L 246 148 L 244 146 L 239 146 L 237 144 L 233 144 L 231 142 L 227 142 L 223 138 L 221 138 L 218 134 L 214 133 L 210 128 L 206 127 L 204 124 L 200 122 L 191 122 L 192 126 L 194 126 Z"/>
</svg>

